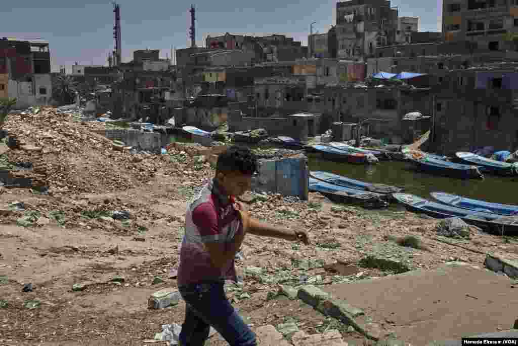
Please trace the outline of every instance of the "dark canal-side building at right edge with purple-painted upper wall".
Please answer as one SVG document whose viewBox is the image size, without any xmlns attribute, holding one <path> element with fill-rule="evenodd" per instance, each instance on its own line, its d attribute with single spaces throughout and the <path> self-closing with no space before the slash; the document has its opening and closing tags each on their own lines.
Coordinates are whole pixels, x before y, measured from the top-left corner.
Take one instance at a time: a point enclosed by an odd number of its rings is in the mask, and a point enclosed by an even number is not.
<svg viewBox="0 0 518 346">
<path fill-rule="evenodd" d="M 456 70 L 434 89 L 437 151 L 472 151 L 482 146 L 518 148 L 517 64 L 494 64 L 492 70 Z"/>
</svg>

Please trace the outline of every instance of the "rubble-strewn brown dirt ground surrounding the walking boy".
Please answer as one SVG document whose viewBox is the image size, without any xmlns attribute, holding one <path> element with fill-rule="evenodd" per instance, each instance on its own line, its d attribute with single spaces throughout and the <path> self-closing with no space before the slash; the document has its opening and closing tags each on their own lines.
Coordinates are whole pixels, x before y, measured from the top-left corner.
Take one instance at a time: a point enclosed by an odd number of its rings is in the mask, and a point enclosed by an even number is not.
<svg viewBox="0 0 518 346">
<path fill-rule="evenodd" d="M 176 287 L 170 273 L 178 264 L 185 206 L 213 175 L 210 166 L 193 165 L 192 158 L 178 152 L 121 153 L 87 126 L 65 117 L 59 123 L 41 118 L 10 119 L 20 123 L 6 126 L 19 141 L 42 148 L 11 149 L 6 155 L 11 162 L 34 162 L 33 171 L 17 174 L 39 179 L 49 193 L 0 187 L 0 345 L 142 345 L 162 324 L 181 324 L 182 302 L 150 310 L 147 301 L 157 290 Z M 77 141 L 81 145 L 71 144 Z M 7 211 L 13 202 L 23 202 L 25 210 Z M 436 240 L 437 220 L 404 211 L 335 209 L 314 193 L 309 201 L 273 195 L 249 207 L 257 218 L 307 230 L 311 241 L 305 246 L 254 236 L 244 240 L 244 258 L 237 261 L 243 287 L 228 295 L 252 328 L 294 320 L 308 334 L 339 329 L 344 340 L 363 340 L 298 300 L 272 295 L 278 278 L 289 277 L 287 284 L 311 283 L 320 275 L 315 284 L 327 285 L 390 274 L 362 267 L 366 255 L 377 253 L 424 269 L 452 259 L 482 265 L 485 258 Z M 112 219 L 113 211 L 131 218 Z M 25 227 L 17 224 L 24 216 L 30 218 Z M 397 245 L 391 238 L 407 235 L 419 237 L 426 250 Z M 459 244 L 479 252 L 518 253 L 514 241 L 478 231 Z M 318 265 L 300 265 L 305 260 Z M 330 269 L 337 261 L 341 273 Z M 263 278 L 244 275 L 249 266 L 263 268 Z M 123 282 L 106 282 L 116 276 Z M 165 282 L 153 285 L 155 276 Z M 98 283 L 72 290 L 87 281 Z M 23 292 L 27 283 L 32 292 Z M 24 307 L 31 300 L 40 305 Z M 225 342 L 214 336 L 208 344 Z"/>
</svg>

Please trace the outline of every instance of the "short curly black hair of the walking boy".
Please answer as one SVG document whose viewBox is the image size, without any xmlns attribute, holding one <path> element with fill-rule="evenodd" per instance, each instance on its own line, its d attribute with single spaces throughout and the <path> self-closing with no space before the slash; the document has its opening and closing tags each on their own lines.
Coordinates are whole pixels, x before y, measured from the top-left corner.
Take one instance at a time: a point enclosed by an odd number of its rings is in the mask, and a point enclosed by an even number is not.
<svg viewBox="0 0 518 346">
<path fill-rule="evenodd" d="M 253 175 L 257 172 L 257 158 L 249 148 L 233 145 L 218 156 L 216 174 L 219 172 Z"/>
</svg>

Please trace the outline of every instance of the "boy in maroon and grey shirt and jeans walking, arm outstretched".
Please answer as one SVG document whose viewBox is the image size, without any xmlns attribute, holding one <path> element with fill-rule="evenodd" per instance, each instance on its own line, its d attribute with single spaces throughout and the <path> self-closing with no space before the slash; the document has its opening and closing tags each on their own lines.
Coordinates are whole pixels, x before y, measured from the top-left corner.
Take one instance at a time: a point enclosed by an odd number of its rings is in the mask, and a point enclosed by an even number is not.
<svg viewBox="0 0 518 346">
<path fill-rule="evenodd" d="M 235 201 L 250 189 L 256 171 L 250 149 L 228 148 L 218 157 L 215 177 L 188 206 L 178 268 L 178 289 L 186 303 L 181 346 L 203 346 L 210 326 L 232 346 L 257 345 L 223 289 L 225 280 L 237 281 L 234 257 L 247 233 L 309 244 L 306 232 L 261 223 Z"/>
</svg>

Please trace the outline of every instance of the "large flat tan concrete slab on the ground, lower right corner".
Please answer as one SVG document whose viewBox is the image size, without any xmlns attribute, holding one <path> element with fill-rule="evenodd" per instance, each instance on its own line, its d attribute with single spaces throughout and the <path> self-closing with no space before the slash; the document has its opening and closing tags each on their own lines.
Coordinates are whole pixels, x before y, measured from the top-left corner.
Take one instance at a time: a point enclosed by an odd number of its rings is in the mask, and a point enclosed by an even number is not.
<svg viewBox="0 0 518 346">
<path fill-rule="evenodd" d="M 322 289 L 366 311 L 374 324 L 392 320 L 398 339 L 412 344 L 491 332 L 509 326 L 518 309 L 508 278 L 465 262 Z"/>
</svg>

